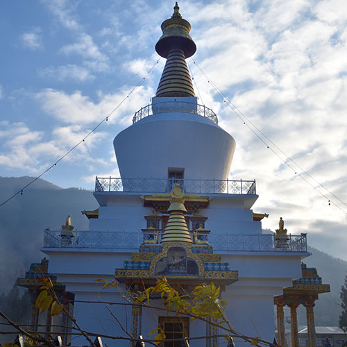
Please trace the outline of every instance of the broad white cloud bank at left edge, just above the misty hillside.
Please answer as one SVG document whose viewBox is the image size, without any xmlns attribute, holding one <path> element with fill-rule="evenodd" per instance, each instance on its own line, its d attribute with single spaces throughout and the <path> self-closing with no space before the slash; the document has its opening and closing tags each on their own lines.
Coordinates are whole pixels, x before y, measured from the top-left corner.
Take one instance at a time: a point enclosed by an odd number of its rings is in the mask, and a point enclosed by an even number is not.
<svg viewBox="0 0 347 347">
<path fill-rule="evenodd" d="M 69 149 L 80 142 L 90 133 L 90 128 L 84 126 L 56 126 L 45 133 L 33 131 L 24 123 L 7 122 L 1 124 L 0 141 L 3 151 L 0 155 L 0 165 L 6 169 L 19 169 L 26 174 L 41 174 L 47 167 L 56 162 Z M 108 133 L 99 131 L 90 135 L 73 152 L 64 158 L 69 164 L 83 166 L 94 164 L 107 164 L 103 160 L 94 160 L 90 152 L 101 142 Z"/>
</svg>

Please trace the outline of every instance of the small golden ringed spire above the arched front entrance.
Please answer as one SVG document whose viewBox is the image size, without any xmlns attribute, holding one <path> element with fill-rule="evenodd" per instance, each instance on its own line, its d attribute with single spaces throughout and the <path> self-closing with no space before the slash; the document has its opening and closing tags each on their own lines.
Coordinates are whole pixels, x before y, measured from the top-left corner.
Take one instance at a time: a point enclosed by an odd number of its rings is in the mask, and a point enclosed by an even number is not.
<svg viewBox="0 0 347 347">
<path fill-rule="evenodd" d="M 186 242 L 192 244 L 192 237 L 185 221 L 184 212 L 185 209 L 184 192 L 180 189 L 179 185 L 176 185 L 171 190 L 171 203 L 168 208 L 170 212 L 167 226 L 165 227 L 164 233 L 162 234 L 161 243 L 165 242 Z"/>
</svg>

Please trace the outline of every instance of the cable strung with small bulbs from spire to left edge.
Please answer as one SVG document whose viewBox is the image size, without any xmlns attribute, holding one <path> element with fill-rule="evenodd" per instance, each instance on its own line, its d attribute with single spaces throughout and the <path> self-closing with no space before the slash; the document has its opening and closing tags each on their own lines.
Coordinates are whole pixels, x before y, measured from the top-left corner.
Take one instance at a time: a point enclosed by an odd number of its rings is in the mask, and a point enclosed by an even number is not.
<svg viewBox="0 0 347 347">
<path fill-rule="evenodd" d="M 137 90 L 137 88 L 142 85 L 145 81 L 145 79 L 147 78 L 147 76 L 149 76 L 149 74 L 151 74 L 151 71 L 154 69 L 154 67 L 156 65 L 159 64 L 159 60 L 161 58 L 159 58 L 155 64 L 151 67 L 151 69 L 149 69 L 149 71 L 147 71 L 146 75 L 144 75 L 143 78 L 141 78 L 141 80 L 139 81 L 139 83 L 137 83 L 137 85 L 135 85 L 135 87 L 133 87 L 132 90 L 130 90 L 130 92 L 128 93 L 128 95 L 126 95 L 124 97 L 123 100 L 121 100 L 121 102 L 110 112 L 108 113 L 108 115 L 106 117 L 104 117 L 99 124 L 97 124 L 96 126 L 94 126 L 94 128 L 92 130 L 90 130 L 89 133 L 87 133 L 87 135 L 85 135 L 85 137 L 83 137 L 83 139 L 81 139 L 81 141 L 79 141 L 77 144 L 75 144 L 73 147 L 71 147 L 71 149 L 69 149 L 69 151 L 67 151 L 64 155 L 62 155 L 58 160 L 56 160 L 56 162 L 54 162 L 53 164 L 51 164 L 50 167 L 48 167 L 46 170 L 44 170 L 42 172 L 42 174 L 40 174 L 39 176 L 35 177 L 33 180 L 31 180 L 27 185 L 25 185 L 24 187 L 22 187 L 21 189 L 19 189 L 15 194 L 13 194 L 12 196 L 10 196 L 9 198 L 7 198 L 5 201 L 3 201 L 3 203 L 1 203 L 1 206 L 5 205 L 6 203 L 8 203 L 8 201 L 12 200 L 12 198 L 14 198 L 15 196 L 17 196 L 18 194 L 23 195 L 24 189 L 26 189 L 27 187 L 29 187 L 29 185 L 32 185 L 35 181 L 37 181 L 39 178 L 41 178 L 44 174 L 46 174 L 46 172 L 48 172 L 49 170 L 53 169 L 53 167 L 55 167 L 58 162 L 60 162 L 61 160 L 63 160 L 67 155 L 69 155 L 69 153 L 71 153 L 72 151 L 74 151 L 74 149 L 76 149 L 80 144 L 82 144 L 83 142 L 85 142 L 85 139 L 87 139 L 88 137 L 90 137 L 90 135 L 92 135 L 92 133 L 94 133 L 96 131 L 97 128 L 99 128 L 99 126 L 101 126 L 101 124 L 103 124 L 105 121 L 108 121 L 108 119 L 111 117 L 111 115 L 113 115 L 113 113 L 115 113 L 118 108 L 121 106 L 122 103 L 124 103 L 124 101 L 126 101 L 126 99 L 129 98 L 129 96 L 131 94 L 133 94 L 133 92 L 135 92 L 135 90 Z"/>
</svg>

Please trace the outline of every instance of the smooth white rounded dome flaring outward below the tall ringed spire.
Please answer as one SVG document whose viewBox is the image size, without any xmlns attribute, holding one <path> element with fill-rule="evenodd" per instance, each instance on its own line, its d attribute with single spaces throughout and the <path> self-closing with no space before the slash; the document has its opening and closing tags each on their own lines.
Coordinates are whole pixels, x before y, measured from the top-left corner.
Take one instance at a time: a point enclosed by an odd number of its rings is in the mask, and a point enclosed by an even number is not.
<svg viewBox="0 0 347 347">
<path fill-rule="evenodd" d="M 198 115 L 164 113 L 146 117 L 114 140 L 123 178 L 167 178 L 168 168 L 183 168 L 185 178 L 226 179 L 235 140 Z"/>
</svg>

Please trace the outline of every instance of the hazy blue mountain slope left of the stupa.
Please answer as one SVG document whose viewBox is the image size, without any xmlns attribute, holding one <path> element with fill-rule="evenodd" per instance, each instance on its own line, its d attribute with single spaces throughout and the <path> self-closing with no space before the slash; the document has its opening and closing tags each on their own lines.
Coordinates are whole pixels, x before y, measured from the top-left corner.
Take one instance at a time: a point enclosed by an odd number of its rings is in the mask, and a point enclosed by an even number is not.
<svg viewBox="0 0 347 347">
<path fill-rule="evenodd" d="M 1 202 L 24 187 L 31 177 L 0 178 Z M 71 214 L 77 229 L 86 229 L 88 220 L 81 210 L 94 210 L 97 203 L 85 189 L 62 189 L 46 180 L 37 180 L 0 208 L 0 294 L 12 288 L 31 262 L 39 262 L 44 229 L 60 229 Z"/>
</svg>

